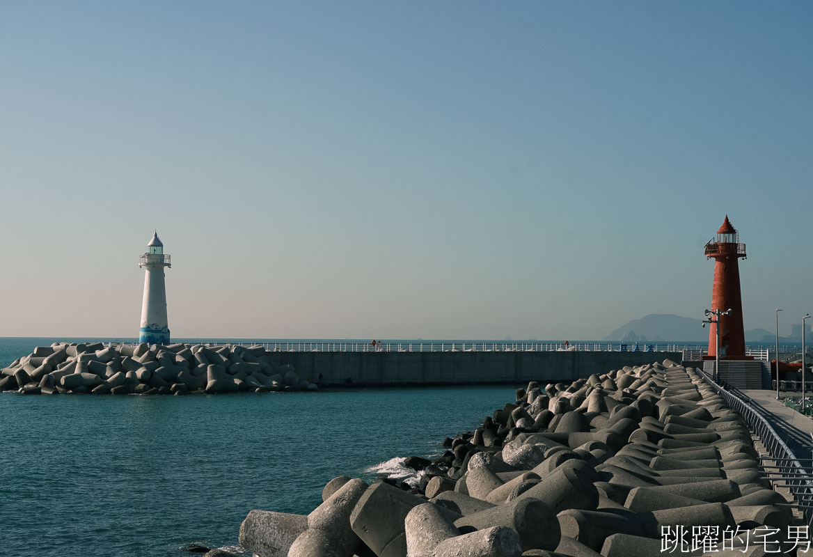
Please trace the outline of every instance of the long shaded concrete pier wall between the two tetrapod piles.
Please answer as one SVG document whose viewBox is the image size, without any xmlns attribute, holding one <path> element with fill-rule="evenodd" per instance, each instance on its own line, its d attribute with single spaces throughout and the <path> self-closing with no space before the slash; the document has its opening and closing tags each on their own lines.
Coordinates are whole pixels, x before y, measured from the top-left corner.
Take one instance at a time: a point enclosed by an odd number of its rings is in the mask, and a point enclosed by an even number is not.
<svg viewBox="0 0 813 557">
<path fill-rule="evenodd" d="M 473 385 L 575 381 L 624 366 L 680 363 L 680 352 L 273 352 L 321 385 Z M 322 377 L 320 378 L 320 374 Z"/>
</svg>

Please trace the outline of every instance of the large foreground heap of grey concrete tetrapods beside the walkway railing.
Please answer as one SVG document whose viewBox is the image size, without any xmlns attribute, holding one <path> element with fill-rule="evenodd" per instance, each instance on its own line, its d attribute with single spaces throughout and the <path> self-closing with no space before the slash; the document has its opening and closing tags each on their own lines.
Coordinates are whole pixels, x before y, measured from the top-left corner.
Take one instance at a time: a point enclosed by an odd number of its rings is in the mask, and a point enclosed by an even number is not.
<svg viewBox="0 0 813 557">
<path fill-rule="evenodd" d="M 796 554 L 799 523 L 760 475 L 741 416 L 668 359 L 532 381 L 445 446 L 407 459 L 415 485 L 341 476 L 307 516 L 250 511 L 241 546 L 259 557 Z M 772 541 L 754 542 L 765 528 Z"/>
</svg>

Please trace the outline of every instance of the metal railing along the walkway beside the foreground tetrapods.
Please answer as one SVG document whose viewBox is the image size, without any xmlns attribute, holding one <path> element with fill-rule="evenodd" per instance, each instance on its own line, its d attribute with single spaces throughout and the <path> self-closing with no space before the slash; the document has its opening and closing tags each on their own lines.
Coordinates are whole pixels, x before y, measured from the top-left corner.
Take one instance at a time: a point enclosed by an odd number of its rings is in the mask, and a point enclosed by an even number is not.
<svg viewBox="0 0 813 557">
<path fill-rule="evenodd" d="M 811 475 L 811 472 L 802 466 L 802 463 L 793 454 L 793 450 L 790 450 L 790 447 L 782 441 L 779 433 L 776 433 L 776 429 L 773 429 L 771 424 L 754 407 L 731 391 L 717 385 L 702 370 L 698 371 L 701 372 L 706 383 L 711 385 L 724 398 L 728 407 L 742 416 L 746 420 L 749 429 L 759 437 L 770 455 L 769 459 L 776 463 L 776 466 L 768 468 L 776 470 L 777 472 L 771 473 L 781 476 L 780 479 L 784 481 L 784 483 L 775 483 L 774 485 L 788 488 L 790 493 L 793 494 L 793 498 L 796 499 L 798 507 L 802 510 L 807 526 L 813 525 L 813 485 L 811 485 L 813 475 Z"/>
</svg>

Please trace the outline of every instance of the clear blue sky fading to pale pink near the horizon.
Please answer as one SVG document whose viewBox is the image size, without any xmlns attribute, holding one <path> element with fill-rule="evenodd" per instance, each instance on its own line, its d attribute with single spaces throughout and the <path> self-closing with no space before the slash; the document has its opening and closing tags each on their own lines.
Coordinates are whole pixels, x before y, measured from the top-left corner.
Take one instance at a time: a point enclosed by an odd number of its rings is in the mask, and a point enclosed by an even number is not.
<svg viewBox="0 0 813 557">
<path fill-rule="evenodd" d="M 0 2 L 0 336 L 598 339 L 813 311 L 813 3 Z"/>
</svg>

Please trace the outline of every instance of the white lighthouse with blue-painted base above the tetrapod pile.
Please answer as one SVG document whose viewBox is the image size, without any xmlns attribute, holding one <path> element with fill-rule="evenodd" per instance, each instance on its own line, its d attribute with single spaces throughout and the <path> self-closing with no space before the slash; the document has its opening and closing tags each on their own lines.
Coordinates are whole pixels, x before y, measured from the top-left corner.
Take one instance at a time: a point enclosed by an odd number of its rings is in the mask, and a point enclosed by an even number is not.
<svg viewBox="0 0 813 557">
<path fill-rule="evenodd" d="M 155 231 L 147 244 L 146 254 L 138 258 L 138 267 L 146 268 L 138 342 L 169 344 L 167 287 L 163 281 L 163 268 L 172 267 L 172 264 L 169 263 L 169 255 L 163 253 L 163 243 L 158 237 L 158 231 Z"/>
</svg>

